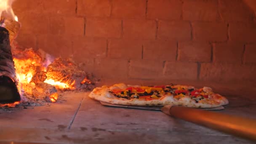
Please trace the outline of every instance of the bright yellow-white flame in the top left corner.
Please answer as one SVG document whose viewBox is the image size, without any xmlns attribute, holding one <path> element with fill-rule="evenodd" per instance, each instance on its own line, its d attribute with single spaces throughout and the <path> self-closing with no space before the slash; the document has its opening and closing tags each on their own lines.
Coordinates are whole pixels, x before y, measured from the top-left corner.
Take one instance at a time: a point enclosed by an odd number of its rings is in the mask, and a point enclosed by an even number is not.
<svg viewBox="0 0 256 144">
<path fill-rule="evenodd" d="M 18 21 L 18 17 L 14 14 L 13 9 L 11 8 L 13 1 L 14 0 L 0 0 L 0 15 L 5 12 L 10 15 L 12 19 Z"/>
</svg>

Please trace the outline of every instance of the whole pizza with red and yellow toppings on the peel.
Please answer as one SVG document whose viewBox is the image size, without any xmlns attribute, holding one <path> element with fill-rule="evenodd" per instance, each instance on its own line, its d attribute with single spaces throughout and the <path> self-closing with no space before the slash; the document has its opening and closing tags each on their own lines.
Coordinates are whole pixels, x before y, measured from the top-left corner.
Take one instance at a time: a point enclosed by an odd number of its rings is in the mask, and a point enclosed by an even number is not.
<svg viewBox="0 0 256 144">
<path fill-rule="evenodd" d="M 137 106 L 181 105 L 184 107 L 211 108 L 226 105 L 229 101 L 210 87 L 191 85 L 140 86 L 124 83 L 94 88 L 89 97 L 110 104 Z"/>
</svg>

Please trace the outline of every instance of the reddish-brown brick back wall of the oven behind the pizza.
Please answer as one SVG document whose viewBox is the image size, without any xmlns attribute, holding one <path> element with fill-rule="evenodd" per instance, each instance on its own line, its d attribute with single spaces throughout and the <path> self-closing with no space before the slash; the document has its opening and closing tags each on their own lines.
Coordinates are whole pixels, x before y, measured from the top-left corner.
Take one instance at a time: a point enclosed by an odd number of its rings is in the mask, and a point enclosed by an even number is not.
<svg viewBox="0 0 256 144">
<path fill-rule="evenodd" d="M 243 0 L 16 0 L 13 9 L 21 46 L 97 76 L 256 82 L 255 13 Z"/>
</svg>

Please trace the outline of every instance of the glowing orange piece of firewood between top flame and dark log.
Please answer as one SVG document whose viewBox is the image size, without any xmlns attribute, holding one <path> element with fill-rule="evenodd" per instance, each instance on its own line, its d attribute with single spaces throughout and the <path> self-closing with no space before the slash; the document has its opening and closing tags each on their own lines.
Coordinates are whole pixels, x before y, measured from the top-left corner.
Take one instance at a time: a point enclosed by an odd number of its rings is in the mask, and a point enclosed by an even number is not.
<svg viewBox="0 0 256 144">
<path fill-rule="evenodd" d="M 20 29 L 20 23 L 11 18 L 0 18 L 0 26 L 5 27 L 9 31 L 10 43 L 17 37 Z"/>
</svg>

